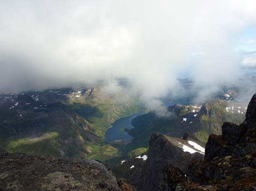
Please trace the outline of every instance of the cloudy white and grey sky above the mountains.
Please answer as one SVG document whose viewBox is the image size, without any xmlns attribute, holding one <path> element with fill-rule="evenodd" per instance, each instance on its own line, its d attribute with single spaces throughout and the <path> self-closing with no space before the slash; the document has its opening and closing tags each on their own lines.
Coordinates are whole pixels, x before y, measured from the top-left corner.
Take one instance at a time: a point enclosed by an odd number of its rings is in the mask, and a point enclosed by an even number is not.
<svg viewBox="0 0 256 191">
<path fill-rule="evenodd" d="M 125 78 L 150 104 L 188 71 L 211 93 L 254 66 L 255 31 L 255 0 L 0 0 L 0 92 Z"/>
</svg>

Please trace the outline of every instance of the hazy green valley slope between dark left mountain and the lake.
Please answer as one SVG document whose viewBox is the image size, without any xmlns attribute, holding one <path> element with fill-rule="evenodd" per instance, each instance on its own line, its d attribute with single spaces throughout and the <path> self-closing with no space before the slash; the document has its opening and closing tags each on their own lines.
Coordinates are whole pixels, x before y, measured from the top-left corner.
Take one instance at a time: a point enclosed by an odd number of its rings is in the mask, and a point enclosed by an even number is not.
<svg viewBox="0 0 256 191">
<path fill-rule="evenodd" d="M 111 97 L 107 98 L 77 98 L 69 100 L 67 104 L 91 124 L 93 133 L 104 139 L 105 132 L 111 124 L 133 113 L 145 111 L 144 105 L 136 99 L 127 98 L 127 101 L 118 102 Z"/>
</svg>

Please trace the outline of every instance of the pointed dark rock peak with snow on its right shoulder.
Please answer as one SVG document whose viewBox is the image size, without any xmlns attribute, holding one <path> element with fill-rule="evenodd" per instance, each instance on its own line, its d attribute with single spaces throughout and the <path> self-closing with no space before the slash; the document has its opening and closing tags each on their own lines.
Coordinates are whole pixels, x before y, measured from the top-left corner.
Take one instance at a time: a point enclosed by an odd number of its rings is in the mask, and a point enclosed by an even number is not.
<svg viewBox="0 0 256 191">
<path fill-rule="evenodd" d="M 167 187 L 163 176 L 164 166 L 171 164 L 186 173 L 192 160 L 204 159 L 204 155 L 200 152 L 193 154 L 184 152 L 182 145 L 189 146 L 187 142 L 188 140 L 168 137 L 162 133 L 152 134 L 149 141 L 148 177 L 145 191 L 158 191 Z"/>
</svg>

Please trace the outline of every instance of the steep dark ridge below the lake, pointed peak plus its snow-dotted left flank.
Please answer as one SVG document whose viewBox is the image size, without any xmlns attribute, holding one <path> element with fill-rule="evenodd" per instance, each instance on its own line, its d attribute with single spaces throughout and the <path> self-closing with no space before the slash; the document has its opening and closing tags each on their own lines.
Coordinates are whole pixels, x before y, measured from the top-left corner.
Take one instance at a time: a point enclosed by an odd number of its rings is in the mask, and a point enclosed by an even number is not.
<svg viewBox="0 0 256 191">
<path fill-rule="evenodd" d="M 186 173 L 192 160 L 204 159 L 204 146 L 188 133 L 183 138 L 153 133 L 147 153 L 122 160 L 112 170 L 116 177 L 130 179 L 138 191 L 162 190 L 167 187 L 163 180 L 163 167 L 172 164 Z"/>
</svg>

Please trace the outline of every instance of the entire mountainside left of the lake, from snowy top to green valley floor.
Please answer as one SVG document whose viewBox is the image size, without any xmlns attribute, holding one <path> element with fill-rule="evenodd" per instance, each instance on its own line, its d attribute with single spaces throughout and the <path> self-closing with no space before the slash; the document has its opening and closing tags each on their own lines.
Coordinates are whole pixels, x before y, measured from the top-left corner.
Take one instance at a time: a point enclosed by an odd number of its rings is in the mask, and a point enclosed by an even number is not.
<svg viewBox="0 0 256 191">
<path fill-rule="evenodd" d="M 1 95 L 0 145 L 36 155 L 117 156 L 120 151 L 107 144 L 104 132 L 114 120 L 144 109 L 135 99 L 121 102 L 118 96 L 96 87 Z"/>
</svg>

